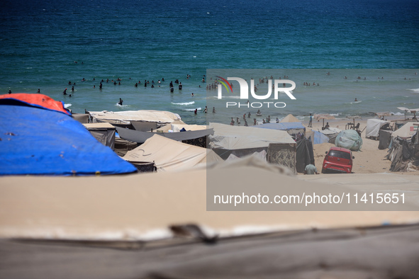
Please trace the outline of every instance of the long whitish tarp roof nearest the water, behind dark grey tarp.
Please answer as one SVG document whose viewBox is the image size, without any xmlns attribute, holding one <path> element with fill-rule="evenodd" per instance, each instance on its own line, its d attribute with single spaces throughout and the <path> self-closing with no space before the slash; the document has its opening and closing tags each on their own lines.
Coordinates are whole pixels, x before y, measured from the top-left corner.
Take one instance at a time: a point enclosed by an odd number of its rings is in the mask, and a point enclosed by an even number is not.
<svg viewBox="0 0 419 279">
<path fill-rule="evenodd" d="M 89 111 L 92 122 L 130 124 L 131 121 L 155 122 L 159 125 L 181 120 L 177 113 L 162 110 Z"/>
</svg>

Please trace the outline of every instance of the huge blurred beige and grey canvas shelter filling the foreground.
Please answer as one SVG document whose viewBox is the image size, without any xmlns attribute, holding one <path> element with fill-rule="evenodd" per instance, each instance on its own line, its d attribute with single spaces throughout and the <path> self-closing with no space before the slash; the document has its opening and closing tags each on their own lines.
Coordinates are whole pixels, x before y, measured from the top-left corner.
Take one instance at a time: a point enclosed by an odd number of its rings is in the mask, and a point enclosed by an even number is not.
<svg viewBox="0 0 419 279">
<path fill-rule="evenodd" d="M 0 278 L 415 278 L 419 273 L 418 176 L 296 178 L 269 164 L 244 163 L 106 178 L 0 177 Z M 239 186 L 257 186 L 256 193 L 405 190 L 412 199 L 403 205 L 407 211 L 365 210 L 363 203 L 362 212 L 208 211 L 208 177 L 221 186 L 234 178 Z"/>
</svg>

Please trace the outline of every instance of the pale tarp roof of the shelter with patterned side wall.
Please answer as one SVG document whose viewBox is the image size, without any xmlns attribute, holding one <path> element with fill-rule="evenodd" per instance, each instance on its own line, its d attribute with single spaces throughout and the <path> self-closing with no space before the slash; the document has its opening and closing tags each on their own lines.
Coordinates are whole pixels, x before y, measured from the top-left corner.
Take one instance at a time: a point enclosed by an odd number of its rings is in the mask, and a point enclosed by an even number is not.
<svg viewBox="0 0 419 279">
<path fill-rule="evenodd" d="M 282 130 L 255 129 L 220 123 L 210 123 L 209 127 L 214 130 L 214 134 L 208 137 L 211 149 L 267 148 L 269 143 L 296 144 L 288 132 Z"/>
</svg>

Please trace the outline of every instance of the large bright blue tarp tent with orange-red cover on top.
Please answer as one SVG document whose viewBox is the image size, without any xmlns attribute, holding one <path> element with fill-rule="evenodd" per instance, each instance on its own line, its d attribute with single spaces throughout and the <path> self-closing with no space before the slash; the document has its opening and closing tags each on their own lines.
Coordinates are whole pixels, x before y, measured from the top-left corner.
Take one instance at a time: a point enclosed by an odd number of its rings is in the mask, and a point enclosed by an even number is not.
<svg viewBox="0 0 419 279">
<path fill-rule="evenodd" d="M 13 98 L 14 95 L 14 98 Z M 98 142 L 71 113 L 48 96 L 45 107 L 0 96 L 0 175 L 94 175 L 132 173 L 135 166 Z M 60 104 L 58 104 L 60 105 Z M 65 110 L 65 109 L 64 109 Z"/>
</svg>

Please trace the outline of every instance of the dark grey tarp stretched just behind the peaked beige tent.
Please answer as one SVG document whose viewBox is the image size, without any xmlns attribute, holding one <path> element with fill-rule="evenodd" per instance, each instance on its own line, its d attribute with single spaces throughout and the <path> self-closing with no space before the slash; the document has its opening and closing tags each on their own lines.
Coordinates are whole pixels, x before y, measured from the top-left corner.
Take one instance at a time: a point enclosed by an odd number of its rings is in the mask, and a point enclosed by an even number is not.
<svg viewBox="0 0 419 279">
<path fill-rule="evenodd" d="M 186 132 L 140 132 L 136 130 L 125 129 L 122 127 L 116 127 L 119 137 L 121 139 L 129 140 L 130 142 L 143 143 L 154 135 L 160 135 L 174 140 L 189 140 L 197 139 L 199 137 L 205 137 L 207 135 L 213 135 L 212 129 L 197 130 L 197 131 L 186 131 Z"/>
</svg>

